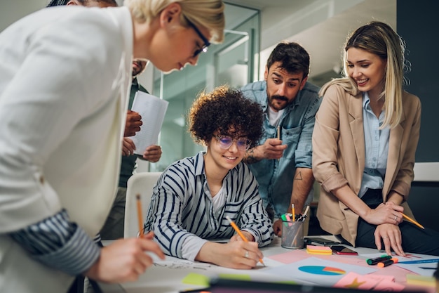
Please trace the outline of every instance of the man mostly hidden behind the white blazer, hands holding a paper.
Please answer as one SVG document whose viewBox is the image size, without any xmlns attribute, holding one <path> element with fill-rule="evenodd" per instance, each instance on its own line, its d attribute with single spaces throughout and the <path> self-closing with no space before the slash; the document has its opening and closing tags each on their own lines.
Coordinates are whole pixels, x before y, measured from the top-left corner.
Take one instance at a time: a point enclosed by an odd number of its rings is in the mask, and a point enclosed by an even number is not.
<svg viewBox="0 0 439 293">
<path fill-rule="evenodd" d="M 119 185 L 117 194 L 114 199 L 112 210 L 110 211 L 107 221 L 105 221 L 100 235 L 102 240 L 114 240 L 123 237 L 123 220 L 125 216 L 126 185 L 128 178 L 133 175 L 136 169 L 136 159 L 147 160 L 149 162 L 158 162 L 161 157 L 160 145 L 149 145 L 143 152 L 142 157 L 135 155 L 135 145 L 133 140 L 127 136 L 133 136 L 140 131 L 142 126 L 142 116 L 131 110 L 135 93 L 142 91 L 148 93 L 142 85 L 137 82 L 137 76 L 141 74 L 147 63 L 144 60 L 133 60 L 133 84 L 131 84 L 130 100 L 128 102 L 128 113 L 126 115 L 126 125 L 122 144 L 121 173 L 119 174 Z"/>
</svg>

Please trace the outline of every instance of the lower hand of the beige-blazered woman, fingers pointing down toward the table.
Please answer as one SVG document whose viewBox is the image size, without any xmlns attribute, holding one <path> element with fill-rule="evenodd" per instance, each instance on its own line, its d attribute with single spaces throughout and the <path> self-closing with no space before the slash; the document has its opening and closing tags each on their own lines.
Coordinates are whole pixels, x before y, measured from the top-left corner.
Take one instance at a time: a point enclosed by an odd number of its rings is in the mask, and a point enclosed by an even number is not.
<svg viewBox="0 0 439 293">
<path fill-rule="evenodd" d="M 403 251 L 403 237 L 398 225 L 384 223 L 378 225 L 375 229 L 375 245 L 378 249 L 381 249 L 381 238 L 384 242 L 384 249 L 386 254 L 391 255 L 391 249 L 399 256 L 405 256 Z"/>
</svg>

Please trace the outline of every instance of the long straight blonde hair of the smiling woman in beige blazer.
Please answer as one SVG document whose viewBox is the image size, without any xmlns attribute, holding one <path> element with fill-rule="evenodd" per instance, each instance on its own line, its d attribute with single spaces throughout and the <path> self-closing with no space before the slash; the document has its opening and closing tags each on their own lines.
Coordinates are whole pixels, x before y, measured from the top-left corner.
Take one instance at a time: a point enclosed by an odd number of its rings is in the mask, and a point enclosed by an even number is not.
<svg viewBox="0 0 439 293">
<path fill-rule="evenodd" d="M 333 79 L 325 84 L 320 90 L 321 96 L 332 84 L 340 84 L 345 91 L 354 96 L 358 94 L 356 83 L 348 74 L 347 51 L 349 48 L 360 48 L 386 60 L 384 90 L 380 96 L 380 98 L 385 98 L 386 114 L 380 129 L 386 126 L 391 128 L 397 126 L 403 115 L 403 84 L 405 82 L 405 44 L 403 39 L 384 22 L 373 21 L 359 27 L 348 37 L 344 46 L 343 67 L 346 77 Z"/>
</svg>

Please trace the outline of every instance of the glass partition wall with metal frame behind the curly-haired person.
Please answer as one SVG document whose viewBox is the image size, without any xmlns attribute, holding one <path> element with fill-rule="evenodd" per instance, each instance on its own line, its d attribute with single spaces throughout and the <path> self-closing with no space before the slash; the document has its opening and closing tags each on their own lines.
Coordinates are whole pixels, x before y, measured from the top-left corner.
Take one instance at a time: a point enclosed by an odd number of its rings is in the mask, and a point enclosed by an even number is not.
<svg viewBox="0 0 439 293">
<path fill-rule="evenodd" d="M 163 171 L 173 162 L 203 150 L 187 131 L 187 113 L 202 91 L 227 84 L 239 88 L 259 79 L 259 11 L 226 4 L 225 39 L 201 53 L 198 65 L 179 72 L 163 74 L 154 69 L 153 94 L 168 100 L 158 144 L 162 148 L 159 162 L 149 171 Z"/>
</svg>

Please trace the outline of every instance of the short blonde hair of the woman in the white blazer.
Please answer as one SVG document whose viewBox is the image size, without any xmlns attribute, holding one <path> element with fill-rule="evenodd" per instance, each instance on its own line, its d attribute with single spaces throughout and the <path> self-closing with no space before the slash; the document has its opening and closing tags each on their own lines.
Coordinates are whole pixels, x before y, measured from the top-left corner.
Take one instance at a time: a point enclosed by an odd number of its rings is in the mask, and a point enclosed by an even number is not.
<svg viewBox="0 0 439 293">
<path fill-rule="evenodd" d="M 224 3 L 222 0 L 125 0 L 123 5 L 130 9 L 138 22 L 151 22 L 163 9 L 173 3 L 182 7 L 180 21 L 189 26 L 205 27 L 210 32 L 210 42 L 219 44 L 224 40 Z M 187 20 L 185 19 L 187 18 Z"/>
</svg>

